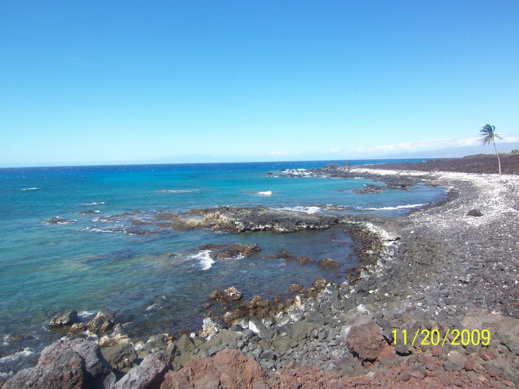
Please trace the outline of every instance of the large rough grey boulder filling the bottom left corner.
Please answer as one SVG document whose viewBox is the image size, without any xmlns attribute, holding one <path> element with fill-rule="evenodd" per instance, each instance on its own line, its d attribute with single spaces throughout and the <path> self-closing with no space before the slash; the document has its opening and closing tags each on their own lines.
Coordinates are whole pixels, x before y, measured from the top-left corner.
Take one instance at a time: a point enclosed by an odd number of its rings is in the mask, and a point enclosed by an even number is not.
<svg viewBox="0 0 519 389">
<path fill-rule="evenodd" d="M 45 348 L 36 367 L 18 372 L 4 388 L 110 388 L 114 382 L 95 342 L 64 338 Z"/>
</svg>

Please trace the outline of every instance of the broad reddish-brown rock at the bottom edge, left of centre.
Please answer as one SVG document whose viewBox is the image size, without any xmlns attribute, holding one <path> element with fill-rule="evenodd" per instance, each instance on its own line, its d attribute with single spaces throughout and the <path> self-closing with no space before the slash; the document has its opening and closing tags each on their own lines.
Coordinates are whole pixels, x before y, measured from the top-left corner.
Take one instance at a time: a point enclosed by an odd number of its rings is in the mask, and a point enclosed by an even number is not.
<svg viewBox="0 0 519 389">
<path fill-rule="evenodd" d="M 260 364 L 236 350 L 223 350 L 213 358 L 195 360 L 179 371 L 166 373 L 160 389 L 181 388 L 268 388 Z"/>
</svg>

